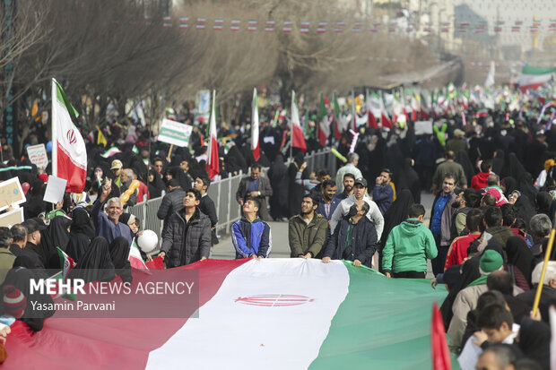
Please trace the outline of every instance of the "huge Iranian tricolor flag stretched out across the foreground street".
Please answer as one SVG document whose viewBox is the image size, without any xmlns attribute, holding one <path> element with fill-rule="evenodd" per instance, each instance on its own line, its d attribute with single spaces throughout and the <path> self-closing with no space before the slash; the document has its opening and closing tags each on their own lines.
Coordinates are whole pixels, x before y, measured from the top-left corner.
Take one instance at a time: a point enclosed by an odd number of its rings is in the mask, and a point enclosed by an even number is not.
<svg viewBox="0 0 556 370">
<path fill-rule="evenodd" d="M 447 292 L 430 288 L 429 280 L 387 279 L 352 262 L 299 258 L 207 260 L 178 269 L 199 273 L 198 318 L 56 313 L 32 334 L 17 322 L 3 367 L 431 368 L 431 308 Z M 144 276 L 135 274 L 134 284 Z"/>
</svg>

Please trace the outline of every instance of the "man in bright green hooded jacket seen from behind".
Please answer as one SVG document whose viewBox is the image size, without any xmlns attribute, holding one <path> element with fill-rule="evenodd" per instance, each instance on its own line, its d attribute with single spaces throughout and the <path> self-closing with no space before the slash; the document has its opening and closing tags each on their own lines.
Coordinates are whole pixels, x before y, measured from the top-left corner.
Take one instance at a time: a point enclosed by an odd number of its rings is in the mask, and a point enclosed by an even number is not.
<svg viewBox="0 0 556 370">
<path fill-rule="evenodd" d="M 409 218 L 390 231 L 383 250 L 382 269 L 387 278 L 420 278 L 427 274 L 427 259 L 437 256 L 430 229 L 423 223 L 425 207 L 413 204 Z"/>
</svg>

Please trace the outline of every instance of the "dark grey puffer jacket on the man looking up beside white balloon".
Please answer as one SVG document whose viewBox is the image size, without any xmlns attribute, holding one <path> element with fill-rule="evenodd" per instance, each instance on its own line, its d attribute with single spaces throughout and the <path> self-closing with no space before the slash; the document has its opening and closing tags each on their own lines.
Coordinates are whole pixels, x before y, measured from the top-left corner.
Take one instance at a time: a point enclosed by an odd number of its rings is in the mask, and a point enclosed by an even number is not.
<svg viewBox="0 0 556 370">
<path fill-rule="evenodd" d="M 197 262 L 201 257 L 209 257 L 211 252 L 211 220 L 203 212 L 195 211 L 189 220 L 186 240 L 186 219 L 184 212 L 174 212 L 162 231 L 161 252 L 166 254 L 167 267 Z M 185 263 L 182 261 L 185 258 Z"/>
</svg>

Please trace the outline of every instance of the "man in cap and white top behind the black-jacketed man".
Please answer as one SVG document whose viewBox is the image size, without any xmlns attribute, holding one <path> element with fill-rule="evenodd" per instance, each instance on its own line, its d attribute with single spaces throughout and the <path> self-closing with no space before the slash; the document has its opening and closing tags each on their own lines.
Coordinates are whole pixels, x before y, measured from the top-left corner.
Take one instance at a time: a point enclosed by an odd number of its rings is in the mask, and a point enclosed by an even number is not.
<svg viewBox="0 0 556 370">
<path fill-rule="evenodd" d="M 343 217 L 347 216 L 354 202 L 365 201 L 369 204 L 369 211 L 366 213 L 367 218 L 375 223 L 375 228 L 377 229 L 377 237 L 380 239 L 382 235 L 382 230 L 384 229 L 384 217 L 382 213 L 378 210 L 377 203 L 373 202 L 367 195 L 367 180 L 362 177 L 355 179 L 355 184 L 353 185 L 353 194 L 345 198 L 332 214 L 330 219 L 330 232 L 334 234 L 334 229 L 336 225 L 342 220 Z"/>
</svg>

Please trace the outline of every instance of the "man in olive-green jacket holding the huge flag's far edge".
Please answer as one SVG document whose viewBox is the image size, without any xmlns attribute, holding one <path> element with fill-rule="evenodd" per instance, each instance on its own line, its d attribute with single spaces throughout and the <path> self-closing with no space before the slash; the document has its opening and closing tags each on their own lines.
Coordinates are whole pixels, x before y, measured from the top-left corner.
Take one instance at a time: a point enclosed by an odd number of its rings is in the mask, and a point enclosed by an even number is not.
<svg viewBox="0 0 556 370">
<path fill-rule="evenodd" d="M 301 213 L 290 219 L 289 239 L 292 258 L 321 258 L 328 221 L 317 213 L 318 196 L 307 194 L 301 200 Z"/>
</svg>

